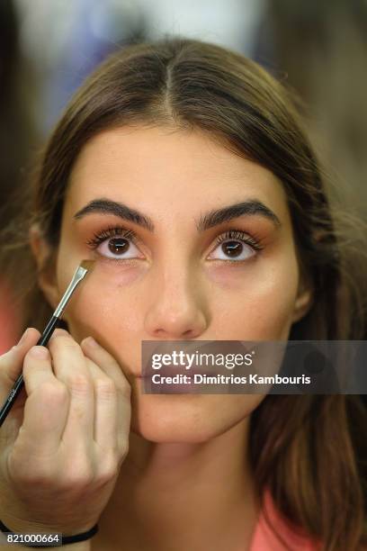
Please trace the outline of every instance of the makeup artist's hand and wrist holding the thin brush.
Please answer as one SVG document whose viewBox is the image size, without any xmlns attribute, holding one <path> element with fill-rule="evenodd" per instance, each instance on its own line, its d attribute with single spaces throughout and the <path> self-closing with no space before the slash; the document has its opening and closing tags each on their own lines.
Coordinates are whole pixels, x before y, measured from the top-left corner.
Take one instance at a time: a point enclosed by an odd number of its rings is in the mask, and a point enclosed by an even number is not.
<svg viewBox="0 0 367 551">
<path fill-rule="evenodd" d="M 0 356 L 1 404 L 21 373 L 25 384 L 0 429 L 0 519 L 13 531 L 73 535 L 92 528 L 111 497 L 129 449 L 131 389 L 89 339 L 79 345 L 59 329 L 48 348 L 39 339 L 30 328 Z"/>
</svg>

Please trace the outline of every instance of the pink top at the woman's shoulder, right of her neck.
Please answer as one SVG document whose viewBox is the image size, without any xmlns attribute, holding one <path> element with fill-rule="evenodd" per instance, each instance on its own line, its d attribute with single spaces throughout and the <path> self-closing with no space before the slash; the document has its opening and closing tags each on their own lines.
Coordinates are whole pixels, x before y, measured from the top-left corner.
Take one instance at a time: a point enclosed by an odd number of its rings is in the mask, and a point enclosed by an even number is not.
<svg viewBox="0 0 367 551">
<path fill-rule="evenodd" d="M 274 529 L 282 536 L 287 546 L 275 536 L 264 519 L 264 513 L 255 526 L 255 532 L 251 541 L 249 551 L 319 551 L 321 546 L 318 542 L 309 537 L 302 536 L 300 531 L 291 528 L 291 524 L 282 519 L 280 513 L 275 509 L 270 492 L 265 492 L 264 508 L 272 521 Z"/>
</svg>

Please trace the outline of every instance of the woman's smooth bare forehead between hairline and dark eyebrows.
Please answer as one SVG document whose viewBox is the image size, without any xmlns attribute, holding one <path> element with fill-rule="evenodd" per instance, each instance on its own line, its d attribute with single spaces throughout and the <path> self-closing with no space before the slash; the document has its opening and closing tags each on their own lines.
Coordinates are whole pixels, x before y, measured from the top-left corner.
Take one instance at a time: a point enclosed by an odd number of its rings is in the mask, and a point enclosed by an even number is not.
<svg viewBox="0 0 367 551">
<path fill-rule="evenodd" d="M 144 205 L 154 216 L 159 208 L 195 211 L 250 195 L 281 216 L 287 209 L 282 183 L 272 172 L 206 132 L 121 127 L 85 144 L 68 183 L 67 208 L 76 211 L 95 197 L 108 196 Z"/>
</svg>

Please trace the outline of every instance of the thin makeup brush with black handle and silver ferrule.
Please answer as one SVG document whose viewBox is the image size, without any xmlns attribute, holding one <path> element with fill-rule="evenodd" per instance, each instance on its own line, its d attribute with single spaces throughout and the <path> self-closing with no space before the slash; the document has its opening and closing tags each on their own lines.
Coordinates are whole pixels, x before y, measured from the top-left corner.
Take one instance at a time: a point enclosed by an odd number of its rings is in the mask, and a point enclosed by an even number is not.
<svg viewBox="0 0 367 551">
<path fill-rule="evenodd" d="M 73 279 L 68 285 L 67 290 L 64 293 L 62 299 L 58 303 L 57 309 L 52 314 L 52 317 L 50 318 L 49 323 L 46 326 L 46 329 L 43 331 L 42 335 L 40 336 L 40 339 L 37 342 L 37 346 L 45 347 L 47 345 L 47 343 L 49 342 L 49 339 L 52 336 L 52 333 L 58 327 L 58 321 L 60 321 L 68 301 L 70 300 L 72 294 L 76 290 L 76 286 L 82 281 L 82 279 L 86 276 L 88 271 L 92 270 L 94 266 L 94 262 L 95 262 L 94 260 L 83 260 L 82 263 L 79 266 L 77 266 Z M 12 409 L 13 403 L 15 402 L 15 398 L 21 392 L 23 385 L 24 385 L 23 376 L 21 374 L 13 384 L 13 388 L 8 394 L 8 397 L 6 398 L 4 405 L 0 410 L 0 427 L 4 423 L 4 420 L 6 419 L 7 414 Z"/>
</svg>

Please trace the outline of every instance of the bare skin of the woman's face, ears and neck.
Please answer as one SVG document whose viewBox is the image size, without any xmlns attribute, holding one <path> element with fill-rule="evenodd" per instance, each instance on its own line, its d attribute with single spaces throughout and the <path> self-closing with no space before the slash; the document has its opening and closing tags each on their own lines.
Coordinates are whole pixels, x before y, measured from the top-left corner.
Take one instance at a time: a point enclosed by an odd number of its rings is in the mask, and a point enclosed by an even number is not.
<svg viewBox="0 0 367 551">
<path fill-rule="evenodd" d="M 143 212 L 154 232 L 112 214 L 73 220 L 100 197 Z M 196 230 L 201 214 L 254 197 L 281 227 L 253 215 Z M 108 239 L 88 248 L 94 233 L 119 225 L 139 239 L 130 243 L 129 259 L 117 260 Z M 245 244 L 245 260 L 224 260 L 216 238 L 227 230 L 245 231 L 263 249 Z M 41 264 L 49 250 L 36 230 L 31 247 Z M 94 271 L 64 319 L 77 342 L 92 335 L 116 358 L 132 390 L 130 451 L 94 545 L 117 549 L 120 537 L 130 550 L 246 549 L 256 515 L 246 437 L 264 396 L 144 394 L 136 375 L 141 340 L 288 339 L 291 324 L 307 312 L 310 292 L 301 285 L 282 184 L 201 131 L 103 131 L 73 168 L 56 273 L 40 276 L 52 306 L 84 258 L 97 260 Z M 180 499 L 173 499 L 177 492 Z"/>
</svg>

